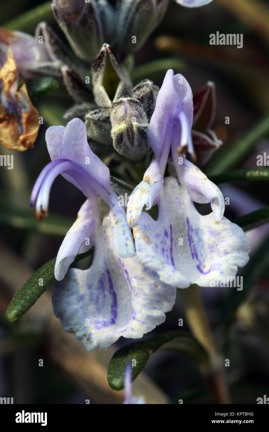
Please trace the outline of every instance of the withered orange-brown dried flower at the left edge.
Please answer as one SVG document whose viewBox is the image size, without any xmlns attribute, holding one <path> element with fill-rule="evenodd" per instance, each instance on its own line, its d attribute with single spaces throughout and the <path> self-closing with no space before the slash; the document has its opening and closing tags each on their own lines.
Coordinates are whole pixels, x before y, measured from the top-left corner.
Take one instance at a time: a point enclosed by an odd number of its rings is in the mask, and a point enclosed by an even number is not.
<svg viewBox="0 0 269 432">
<path fill-rule="evenodd" d="M 15 113 L 8 113 L 4 105 L 0 106 L 0 143 L 8 149 L 22 152 L 34 146 L 39 129 L 39 114 L 28 96 L 26 84 L 19 91 L 14 89 L 17 78 L 17 66 L 9 45 L 6 63 L 0 70 L 0 79 L 3 80 L 6 98 L 11 105 L 16 105 L 21 118 L 18 119 Z"/>
</svg>

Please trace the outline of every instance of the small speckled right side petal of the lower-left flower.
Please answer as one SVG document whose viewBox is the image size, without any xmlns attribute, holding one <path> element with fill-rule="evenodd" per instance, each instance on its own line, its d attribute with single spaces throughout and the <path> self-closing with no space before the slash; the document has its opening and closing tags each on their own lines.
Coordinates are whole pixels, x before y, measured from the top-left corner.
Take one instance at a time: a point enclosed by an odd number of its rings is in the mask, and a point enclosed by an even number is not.
<svg viewBox="0 0 269 432">
<path fill-rule="evenodd" d="M 136 254 L 133 235 L 127 224 L 126 213 L 114 192 L 110 194 L 110 209 L 109 222 L 113 248 L 121 258 L 133 257 Z"/>
</svg>

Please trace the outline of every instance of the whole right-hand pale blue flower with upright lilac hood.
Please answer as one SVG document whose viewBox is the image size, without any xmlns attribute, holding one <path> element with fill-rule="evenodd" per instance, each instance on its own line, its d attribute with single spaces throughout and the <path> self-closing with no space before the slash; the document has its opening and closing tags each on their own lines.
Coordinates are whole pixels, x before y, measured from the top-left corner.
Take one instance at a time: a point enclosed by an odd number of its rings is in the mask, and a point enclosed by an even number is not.
<svg viewBox="0 0 269 432">
<path fill-rule="evenodd" d="M 155 158 L 127 206 L 136 254 L 160 280 L 179 288 L 233 277 L 249 260 L 250 241 L 244 231 L 223 216 L 221 191 L 178 149 L 193 152 L 191 127 L 193 98 L 187 80 L 172 70 L 166 73 L 149 123 L 148 138 Z M 177 179 L 163 180 L 171 150 Z M 158 204 L 158 219 L 142 212 L 143 203 Z M 212 213 L 202 216 L 194 203 L 211 203 Z"/>
</svg>

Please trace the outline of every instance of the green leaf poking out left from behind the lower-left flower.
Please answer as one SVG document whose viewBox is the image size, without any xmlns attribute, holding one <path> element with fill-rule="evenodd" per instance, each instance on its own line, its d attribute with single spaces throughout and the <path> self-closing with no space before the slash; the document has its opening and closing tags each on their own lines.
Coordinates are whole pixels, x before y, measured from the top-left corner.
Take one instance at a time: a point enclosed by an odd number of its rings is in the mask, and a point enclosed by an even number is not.
<svg viewBox="0 0 269 432">
<path fill-rule="evenodd" d="M 80 260 L 91 254 L 93 248 L 83 254 L 76 255 L 75 260 L 70 265 L 74 267 Z M 25 282 L 21 289 L 14 295 L 6 310 L 7 321 L 15 321 L 28 311 L 41 297 L 47 288 L 55 281 L 54 266 L 56 257 L 47 261 Z M 41 284 L 41 285 L 40 285 Z"/>
</svg>

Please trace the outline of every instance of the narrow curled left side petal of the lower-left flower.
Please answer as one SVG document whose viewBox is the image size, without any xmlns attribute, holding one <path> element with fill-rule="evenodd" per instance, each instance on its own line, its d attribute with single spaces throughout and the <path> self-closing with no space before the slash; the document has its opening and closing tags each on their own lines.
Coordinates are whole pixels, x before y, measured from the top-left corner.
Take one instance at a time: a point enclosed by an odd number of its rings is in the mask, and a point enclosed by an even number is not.
<svg viewBox="0 0 269 432">
<path fill-rule="evenodd" d="M 95 219 L 100 224 L 98 199 L 92 190 L 91 202 L 86 200 L 79 210 L 76 221 L 67 232 L 57 254 L 54 275 L 62 280 L 76 254 L 92 247 L 91 237 L 95 230 Z"/>
</svg>

